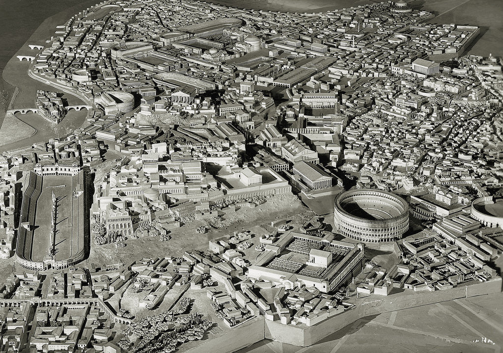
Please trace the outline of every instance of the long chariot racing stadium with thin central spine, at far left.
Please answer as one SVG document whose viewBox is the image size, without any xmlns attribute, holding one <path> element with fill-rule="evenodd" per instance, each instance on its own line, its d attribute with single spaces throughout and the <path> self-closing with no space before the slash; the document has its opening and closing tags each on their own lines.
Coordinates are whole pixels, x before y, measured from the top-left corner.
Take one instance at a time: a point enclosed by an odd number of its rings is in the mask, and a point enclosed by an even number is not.
<svg viewBox="0 0 503 353">
<path fill-rule="evenodd" d="M 84 259 L 85 195 L 83 172 L 69 175 L 27 175 L 21 205 L 16 260 L 25 269 L 44 271 L 64 269 Z M 56 196 L 55 252 L 51 243 L 52 192 Z M 29 224 L 29 227 L 23 226 Z"/>
</svg>

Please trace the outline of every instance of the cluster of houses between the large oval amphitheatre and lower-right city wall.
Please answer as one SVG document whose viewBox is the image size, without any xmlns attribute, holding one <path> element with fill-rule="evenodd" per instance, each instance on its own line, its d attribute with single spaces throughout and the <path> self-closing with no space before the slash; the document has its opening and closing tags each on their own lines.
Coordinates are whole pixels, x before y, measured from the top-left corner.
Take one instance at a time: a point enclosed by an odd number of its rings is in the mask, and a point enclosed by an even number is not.
<svg viewBox="0 0 503 353">
<path fill-rule="evenodd" d="M 398 262 L 387 270 L 365 272 L 356 291 L 387 296 L 393 289 L 433 292 L 487 282 L 497 276 L 488 263 L 503 250 L 491 237 L 498 233 L 464 215 L 447 217 L 433 230 L 397 241 L 393 251 Z"/>
</svg>

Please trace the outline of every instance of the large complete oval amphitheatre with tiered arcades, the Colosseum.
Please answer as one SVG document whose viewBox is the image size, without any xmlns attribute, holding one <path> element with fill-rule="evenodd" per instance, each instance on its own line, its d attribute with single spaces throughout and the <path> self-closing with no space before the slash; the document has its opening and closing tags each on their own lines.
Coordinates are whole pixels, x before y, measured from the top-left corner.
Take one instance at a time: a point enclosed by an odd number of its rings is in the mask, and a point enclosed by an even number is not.
<svg viewBox="0 0 503 353">
<path fill-rule="evenodd" d="M 344 236 L 364 242 L 393 241 L 409 228 L 409 207 L 394 194 L 359 189 L 334 201 L 334 225 Z"/>
</svg>

